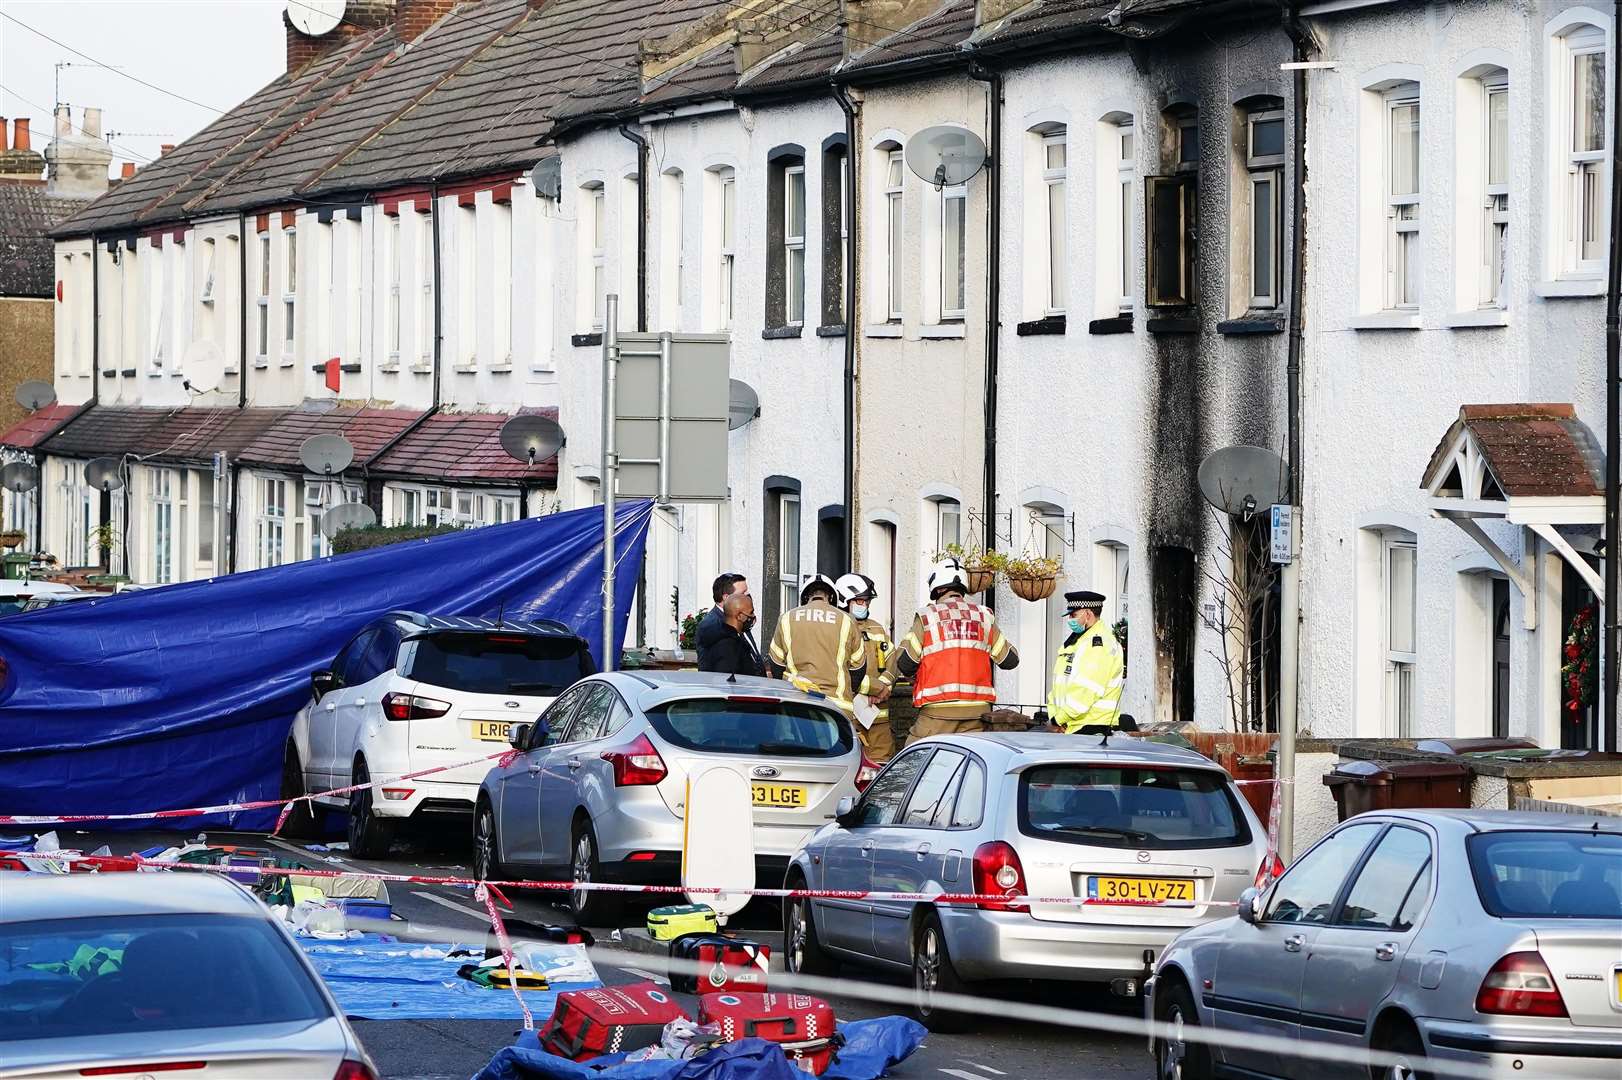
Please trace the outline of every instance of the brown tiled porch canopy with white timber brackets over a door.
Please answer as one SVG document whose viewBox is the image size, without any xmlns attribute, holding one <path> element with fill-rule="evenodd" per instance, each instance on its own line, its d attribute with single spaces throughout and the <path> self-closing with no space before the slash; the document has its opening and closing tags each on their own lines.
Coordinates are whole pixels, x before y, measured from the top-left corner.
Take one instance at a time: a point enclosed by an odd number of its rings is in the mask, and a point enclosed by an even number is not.
<svg viewBox="0 0 1622 1080">
<path fill-rule="evenodd" d="M 1461 405 L 1421 485 L 1431 512 L 1463 529 L 1492 556 L 1521 595 L 1536 594 L 1521 566 L 1481 527 L 1507 521 L 1539 535 L 1604 602 L 1604 581 L 1577 553 L 1562 527 L 1604 524 L 1604 454 L 1568 404 Z M 1526 605 L 1528 618 L 1533 605 Z"/>
</svg>

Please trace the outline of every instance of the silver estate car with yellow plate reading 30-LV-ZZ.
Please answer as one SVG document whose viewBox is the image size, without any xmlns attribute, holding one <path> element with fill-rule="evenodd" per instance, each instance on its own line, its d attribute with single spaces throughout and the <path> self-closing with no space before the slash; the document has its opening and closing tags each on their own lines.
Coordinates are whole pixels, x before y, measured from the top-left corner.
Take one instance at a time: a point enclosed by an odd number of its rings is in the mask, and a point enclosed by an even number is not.
<svg viewBox="0 0 1622 1080">
<path fill-rule="evenodd" d="M 975 733 L 897 754 L 795 855 L 788 887 L 975 892 L 1127 905 L 787 900 L 793 971 L 913 971 L 933 1030 L 967 1018 L 934 991 L 981 979 L 1137 981 L 1182 929 L 1216 918 L 1267 853 L 1231 778 L 1194 751 L 1129 736 Z M 1144 902 L 1194 906 L 1153 906 Z M 1126 989 L 1126 986 L 1119 986 Z"/>
</svg>

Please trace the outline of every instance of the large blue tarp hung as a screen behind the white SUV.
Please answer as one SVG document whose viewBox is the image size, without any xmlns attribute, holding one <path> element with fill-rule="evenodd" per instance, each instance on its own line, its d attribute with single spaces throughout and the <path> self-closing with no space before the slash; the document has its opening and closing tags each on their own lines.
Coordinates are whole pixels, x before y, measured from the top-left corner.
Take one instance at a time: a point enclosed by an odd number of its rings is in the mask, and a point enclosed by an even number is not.
<svg viewBox="0 0 1622 1080">
<path fill-rule="evenodd" d="M 620 508 L 620 611 L 650 516 L 647 501 Z M 0 814 L 276 798 L 310 671 L 393 610 L 560 619 L 600 657 L 602 538 L 602 511 L 581 509 L 0 619 Z M 615 650 L 624 621 L 618 632 Z M 174 825 L 274 821 L 261 809 Z"/>
</svg>

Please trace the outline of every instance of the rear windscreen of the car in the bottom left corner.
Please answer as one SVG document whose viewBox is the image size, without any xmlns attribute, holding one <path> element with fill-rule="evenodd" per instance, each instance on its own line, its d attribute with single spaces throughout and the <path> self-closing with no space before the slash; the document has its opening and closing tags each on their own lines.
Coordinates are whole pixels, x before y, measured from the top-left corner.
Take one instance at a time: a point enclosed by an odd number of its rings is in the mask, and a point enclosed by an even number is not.
<svg viewBox="0 0 1622 1080">
<path fill-rule="evenodd" d="M 331 1015 L 294 945 L 263 918 L 0 923 L 0 1043 Z"/>
</svg>

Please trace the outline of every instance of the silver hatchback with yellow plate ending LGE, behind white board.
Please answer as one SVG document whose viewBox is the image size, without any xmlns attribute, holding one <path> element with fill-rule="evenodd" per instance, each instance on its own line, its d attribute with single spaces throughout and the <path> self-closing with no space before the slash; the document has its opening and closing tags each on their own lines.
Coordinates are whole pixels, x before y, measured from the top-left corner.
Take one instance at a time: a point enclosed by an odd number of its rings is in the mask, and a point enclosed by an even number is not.
<svg viewBox="0 0 1622 1080">
<path fill-rule="evenodd" d="M 675 885 L 688 777 L 723 764 L 754 798 L 756 881 L 874 772 L 850 720 L 788 683 L 709 671 L 610 671 L 566 689 L 534 726 L 514 725 L 511 764 L 474 811 L 478 876 Z M 571 892 L 576 918 L 608 926 L 620 894 Z"/>
</svg>

